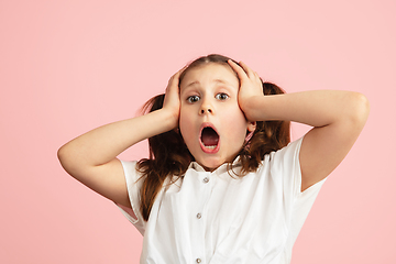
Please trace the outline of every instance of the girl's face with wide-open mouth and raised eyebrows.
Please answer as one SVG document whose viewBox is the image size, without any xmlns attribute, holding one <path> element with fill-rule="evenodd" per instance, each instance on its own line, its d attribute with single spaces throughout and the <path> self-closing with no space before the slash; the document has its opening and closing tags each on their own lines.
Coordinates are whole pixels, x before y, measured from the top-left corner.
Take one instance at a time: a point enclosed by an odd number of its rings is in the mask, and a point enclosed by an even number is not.
<svg viewBox="0 0 396 264">
<path fill-rule="evenodd" d="M 189 69 L 180 84 L 179 128 L 185 143 L 207 170 L 232 162 L 255 123 L 238 105 L 239 79 L 231 67 L 209 63 Z"/>
</svg>

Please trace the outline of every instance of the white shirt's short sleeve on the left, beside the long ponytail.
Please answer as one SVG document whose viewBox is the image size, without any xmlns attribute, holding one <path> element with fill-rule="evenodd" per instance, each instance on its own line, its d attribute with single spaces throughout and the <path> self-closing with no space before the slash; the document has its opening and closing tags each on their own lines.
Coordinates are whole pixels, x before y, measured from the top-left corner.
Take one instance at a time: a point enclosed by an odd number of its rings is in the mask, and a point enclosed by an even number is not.
<svg viewBox="0 0 396 264">
<path fill-rule="evenodd" d="M 136 170 L 136 162 L 121 161 L 121 164 L 125 175 L 128 195 L 132 209 L 118 204 L 117 206 L 120 208 L 121 212 L 127 217 L 127 219 L 143 235 L 145 230 L 145 221 L 143 219 L 142 213 L 140 212 L 140 200 L 141 200 L 140 188 L 143 184 L 143 180 L 139 180 L 141 174 L 139 174 Z"/>
</svg>

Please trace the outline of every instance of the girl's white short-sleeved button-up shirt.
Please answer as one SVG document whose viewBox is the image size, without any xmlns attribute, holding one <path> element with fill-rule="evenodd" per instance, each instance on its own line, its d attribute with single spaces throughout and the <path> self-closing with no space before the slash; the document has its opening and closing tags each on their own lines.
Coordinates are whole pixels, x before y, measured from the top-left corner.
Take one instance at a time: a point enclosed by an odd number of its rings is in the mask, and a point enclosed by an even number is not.
<svg viewBox="0 0 396 264">
<path fill-rule="evenodd" d="M 292 248 L 324 182 L 300 191 L 301 141 L 265 155 L 257 172 L 242 178 L 231 177 L 227 164 L 210 173 L 193 162 L 183 178 L 164 185 L 147 222 L 139 210 L 143 182 L 135 183 L 141 176 L 136 163 L 122 162 L 136 218 L 120 208 L 144 235 L 141 263 L 290 263 Z"/>
</svg>

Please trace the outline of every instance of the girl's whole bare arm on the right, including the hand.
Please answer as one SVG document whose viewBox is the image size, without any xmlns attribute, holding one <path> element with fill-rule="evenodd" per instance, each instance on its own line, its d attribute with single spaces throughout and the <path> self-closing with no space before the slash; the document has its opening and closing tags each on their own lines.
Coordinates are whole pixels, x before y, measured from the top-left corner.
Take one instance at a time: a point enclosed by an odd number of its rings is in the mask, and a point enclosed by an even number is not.
<svg viewBox="0 0 396 264">
<path fill-rule="evenodd" d="M 264 96 L 256 73 L 243 63 L 243 69 L 230 65 L 239 70 L 239 102 L 249 120 L 288 120 L 314 127 L 304 136 L 299 155 L 301 191 L 327 177 L 362 131 L 370 111 L 367 99 L 358 92 L 336 90 Z"/>
</svg>

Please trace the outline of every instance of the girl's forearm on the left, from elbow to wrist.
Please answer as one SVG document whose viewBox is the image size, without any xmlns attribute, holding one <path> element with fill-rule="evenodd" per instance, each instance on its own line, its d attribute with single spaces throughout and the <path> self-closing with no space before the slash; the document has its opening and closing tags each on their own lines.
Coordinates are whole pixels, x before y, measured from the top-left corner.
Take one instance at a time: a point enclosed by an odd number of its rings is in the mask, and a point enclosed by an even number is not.
<svg viewBox="0 0 396 264">
<path fill-rule="evenodd" d="M 102 165 L 135 143 L 169 131 L 174 127 L 175 117 L 157 110 L 89 131 L 62 146 L 58 156 L 66 166 Z"/>
</svg>

